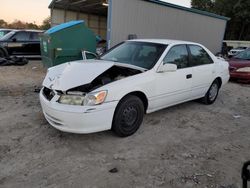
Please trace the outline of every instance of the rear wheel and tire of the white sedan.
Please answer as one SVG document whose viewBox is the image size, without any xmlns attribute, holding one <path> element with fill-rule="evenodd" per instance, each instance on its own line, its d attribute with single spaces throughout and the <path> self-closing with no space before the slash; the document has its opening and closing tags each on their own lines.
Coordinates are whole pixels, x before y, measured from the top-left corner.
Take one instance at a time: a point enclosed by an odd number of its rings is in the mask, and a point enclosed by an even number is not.
<svg viewBox="0 0 250 188">
<path fill-rule="evenodd" d="M 219 94 L 220 83 L 218 80 L 215 80 L 207 91 L 206 95 L 202 98 L 204 104 L 210 105 L 213 104 Z"/>
</svg>

